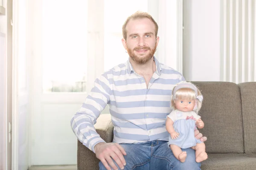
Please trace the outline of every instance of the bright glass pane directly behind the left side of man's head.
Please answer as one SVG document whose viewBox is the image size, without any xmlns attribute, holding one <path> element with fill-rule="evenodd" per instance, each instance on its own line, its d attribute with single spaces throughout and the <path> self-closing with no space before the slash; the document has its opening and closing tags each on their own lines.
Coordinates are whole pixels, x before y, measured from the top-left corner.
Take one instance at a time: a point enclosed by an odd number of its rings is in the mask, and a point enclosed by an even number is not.
<svg viewBox="0 0 256 170">
<path fill-rule="evenodd" d="M 148 11 L 148 0 L 104 1 L 104 70 L 125 62 L 128 54 L 122 45 L 122 25 L 136 11 Z M 114 49 L 114 50 L 113 50 Z"/>
</svg>

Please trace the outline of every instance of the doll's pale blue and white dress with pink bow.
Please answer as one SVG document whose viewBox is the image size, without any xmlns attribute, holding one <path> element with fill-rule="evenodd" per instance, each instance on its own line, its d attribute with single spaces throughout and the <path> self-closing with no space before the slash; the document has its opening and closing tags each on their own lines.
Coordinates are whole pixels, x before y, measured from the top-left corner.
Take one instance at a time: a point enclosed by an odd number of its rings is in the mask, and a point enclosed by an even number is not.
<svg viewBox="0 0 256 170">
<path fill-rule="evenodd" d="M 200 139 L 195 138 L 195 121 L 201 118 L 197 113 L 194 111 L 183 112 L 175 110 L 167 117 L 172 119 L 174 130 L 180 134 L 176 139 L 172 139 L 169 134 L 168 146 L 175 144 L 182 149 L 186 149 L 195 146 L 197 143 L 203 143 Z"/>
</svg>

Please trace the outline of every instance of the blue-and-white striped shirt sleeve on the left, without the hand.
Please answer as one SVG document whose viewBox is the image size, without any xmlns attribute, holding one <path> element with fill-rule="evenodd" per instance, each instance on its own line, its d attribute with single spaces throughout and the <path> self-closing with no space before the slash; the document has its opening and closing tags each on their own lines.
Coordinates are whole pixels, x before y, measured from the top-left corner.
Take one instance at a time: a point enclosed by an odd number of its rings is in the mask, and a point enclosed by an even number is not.
<svg viewBox="0 0 256 170">
<path fill-rule="evenodd" d="M 95 80 L 94 87 L 70 121 L 71 128 L 78 140 L 94 153 L 94 146 L 105 141 L 99 136 L 93 125 L 108 104 L 110 92 L 107 75 L 102 74 Z"/>
</svg>

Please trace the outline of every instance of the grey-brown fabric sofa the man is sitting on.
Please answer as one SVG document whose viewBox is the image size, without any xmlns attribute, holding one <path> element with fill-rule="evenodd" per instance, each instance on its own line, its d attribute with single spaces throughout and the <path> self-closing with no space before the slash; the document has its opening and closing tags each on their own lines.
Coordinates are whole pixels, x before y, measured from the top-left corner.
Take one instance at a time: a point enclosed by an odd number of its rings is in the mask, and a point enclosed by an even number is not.
<svg viewBox="0 0 256 170">
<path fill-rule="evenodd" d="M 207 136 L 208 159 L 202 170 L 256 170 L 256 82 L 192 82 L 204 96 L 199 112 L 204 121 L 200 130 Z M 106 142 L 112 142 L 110 114 L 95 124 Z M 78 141 L 78 170 L 98 170 L 95 154 Z"/>
</svg>

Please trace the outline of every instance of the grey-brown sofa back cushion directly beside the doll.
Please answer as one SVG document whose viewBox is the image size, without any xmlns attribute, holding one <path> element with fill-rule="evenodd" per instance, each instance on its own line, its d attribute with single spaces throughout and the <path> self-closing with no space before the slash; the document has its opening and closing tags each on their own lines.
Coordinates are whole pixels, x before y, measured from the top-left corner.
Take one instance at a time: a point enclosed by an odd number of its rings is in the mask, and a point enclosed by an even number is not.
<svg viewBox="0 0 256 170">
<path fill-rule="evenodd" d="M 239 86 L 232 82 L 192 82 L 204 96 L 200 130 L 207 136 L 207 153 L 244 153 Z M 250 133 L 251 134 L 251 133 Z"/>
</svg>

